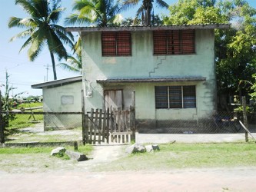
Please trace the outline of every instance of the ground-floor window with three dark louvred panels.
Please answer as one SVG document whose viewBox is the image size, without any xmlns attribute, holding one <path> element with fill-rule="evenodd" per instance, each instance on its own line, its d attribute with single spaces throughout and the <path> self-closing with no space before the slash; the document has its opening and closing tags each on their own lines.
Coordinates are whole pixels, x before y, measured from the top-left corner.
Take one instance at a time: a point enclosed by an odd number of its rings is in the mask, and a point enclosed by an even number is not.
<svg viewBox="0 0 256 192">
<path fill-rule="evenodd" d="M 196 108 L 195 86 L 155 87 L 155 108 Z"/>
</svg>

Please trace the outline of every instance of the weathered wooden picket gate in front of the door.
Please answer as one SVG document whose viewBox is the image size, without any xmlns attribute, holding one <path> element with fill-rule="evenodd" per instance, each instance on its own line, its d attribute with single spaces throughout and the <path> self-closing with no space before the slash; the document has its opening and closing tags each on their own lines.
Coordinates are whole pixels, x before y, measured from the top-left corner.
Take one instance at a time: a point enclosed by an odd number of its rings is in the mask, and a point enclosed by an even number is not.
<svg viewBox="0 0 256 192">
<path fill-rule="evenodd" d="M 133 111 L 132 108 L 121 111 L 91 109 L 85 114 L 82 136 L 84 144 L 130 143 L 135 122 Z"/>
</svg>

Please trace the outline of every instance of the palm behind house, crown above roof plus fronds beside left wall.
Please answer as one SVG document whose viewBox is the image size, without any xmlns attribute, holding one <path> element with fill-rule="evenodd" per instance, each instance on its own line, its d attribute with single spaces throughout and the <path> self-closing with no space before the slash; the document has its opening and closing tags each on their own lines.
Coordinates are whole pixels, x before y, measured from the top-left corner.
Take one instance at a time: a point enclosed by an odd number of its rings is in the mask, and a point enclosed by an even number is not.
<svg viewBox="0 0 256 192">
<path fill-rule="evenodd" d="M 107 27 L 118 25 L 121 22 L 122 6 L 114 0 L 77 0 L 74 3 L 73 11 L 75 13 L 65 18 L 66 25 L 96 25 L 98 27 Z M 60 63 L 58 66 L 70 71 L 80 71 L 81 64 L 81 37 L 74 46 L 77 58 L 69 56 L 68 64 Z"/>
</svg>

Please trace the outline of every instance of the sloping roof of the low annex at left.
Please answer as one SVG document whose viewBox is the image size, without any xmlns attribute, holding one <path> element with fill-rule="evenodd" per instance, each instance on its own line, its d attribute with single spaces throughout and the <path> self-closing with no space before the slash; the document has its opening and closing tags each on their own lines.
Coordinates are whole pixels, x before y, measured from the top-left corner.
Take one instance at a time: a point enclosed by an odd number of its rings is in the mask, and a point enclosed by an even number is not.
<svg viewBox="0 0 256 192">
<path fill-rule="evenodd" d="M 62 84 L 71 84 L 77 81 L 81 81 L 82 76 L 73 77 L 73 78 L 64 78 L 64 79 L 58 79 L 55 81 L 47 81 L 45 83 L 40 84 L 32 84 L 32 88 L 45 88 L 45 87 L 52 87 L 52 86 L 58 86 Z"/>
</svg>

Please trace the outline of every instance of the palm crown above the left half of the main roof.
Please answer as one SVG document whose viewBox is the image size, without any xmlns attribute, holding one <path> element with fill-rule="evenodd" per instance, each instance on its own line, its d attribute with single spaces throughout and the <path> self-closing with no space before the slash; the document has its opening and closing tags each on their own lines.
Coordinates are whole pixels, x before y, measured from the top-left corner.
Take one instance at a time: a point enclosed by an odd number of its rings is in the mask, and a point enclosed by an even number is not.
<svg viewBox="0 0 256 192">
<path fill-rule="evenodd" d="M 65 19 L 66 25 L 96 25 L 106 27 L 121 22 L 122 6 L 115 0 L 76 0 L 73 11 Z"/>
</svg>

